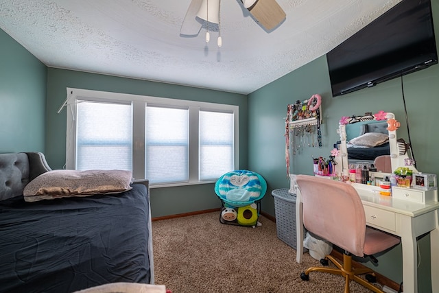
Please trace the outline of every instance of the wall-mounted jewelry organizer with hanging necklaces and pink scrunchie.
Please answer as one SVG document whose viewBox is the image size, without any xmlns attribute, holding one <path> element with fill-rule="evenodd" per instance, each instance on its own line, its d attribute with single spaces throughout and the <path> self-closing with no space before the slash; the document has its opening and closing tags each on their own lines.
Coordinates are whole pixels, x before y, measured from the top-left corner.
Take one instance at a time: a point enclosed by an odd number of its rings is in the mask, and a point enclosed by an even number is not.
<svg viewBox="0 0 439 293">
<path fill-rule="evenodd" d="M 322 97 L 296 101 L 287 106 L 285 119 L 285 161 L 289 173 L 289 154 L 296 155 L 303 148 L 322 148 Z"/>
</svg>

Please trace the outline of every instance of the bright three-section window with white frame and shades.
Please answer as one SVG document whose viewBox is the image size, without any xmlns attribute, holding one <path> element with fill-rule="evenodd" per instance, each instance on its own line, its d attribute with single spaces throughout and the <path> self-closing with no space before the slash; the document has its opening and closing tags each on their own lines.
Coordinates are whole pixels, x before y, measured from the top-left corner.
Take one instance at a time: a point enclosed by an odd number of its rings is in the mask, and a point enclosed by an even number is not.
<svg viewBox="0 0 439 293">
<path fill-rule="evenodd" d="M 154 186 L 238 169 L 238 106 L 67 89 L 67 169 L 128 169 Z"/>
</svg>

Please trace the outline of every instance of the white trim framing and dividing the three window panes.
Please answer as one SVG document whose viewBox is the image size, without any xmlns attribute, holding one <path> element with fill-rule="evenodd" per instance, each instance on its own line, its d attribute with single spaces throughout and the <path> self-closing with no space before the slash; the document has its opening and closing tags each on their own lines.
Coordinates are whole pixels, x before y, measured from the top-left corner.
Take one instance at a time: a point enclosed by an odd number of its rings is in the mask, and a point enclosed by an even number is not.
<svg viewBox="0 0 439 293">
<path fill-rule="evenodd" d="M 67 88 L 67 132 L 66 132 L 66 169 L 75 169 L 76 104 L 78 99 L 97 102 L 131 102 L 133 109 L 132 138 L 132 174 L 135 179 L 145 178 L 145 108 L 148 103 L 163 106 L 189 107 L 189 181 L 185 183 L 167 183 L 151 185 L 154 187 L 172 187 L 180 185 L 197 185 L 215 181 L 198 180 L 198 110 L 212 110 L 234 113 L 234 166 L 239 169 L 239 106 L 197 102 L 185 99 L 112 93 L 86 89 Z M 197 145 L 196 148 L 191 145 Z M 147 178 L 146 178 L 147 179 Z"/>
</svg>

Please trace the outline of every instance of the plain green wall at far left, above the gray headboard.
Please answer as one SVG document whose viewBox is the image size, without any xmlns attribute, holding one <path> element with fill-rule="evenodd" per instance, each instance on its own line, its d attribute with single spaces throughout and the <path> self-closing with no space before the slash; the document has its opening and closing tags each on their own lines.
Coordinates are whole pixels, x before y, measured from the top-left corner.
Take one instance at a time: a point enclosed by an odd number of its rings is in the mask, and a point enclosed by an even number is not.
<svg viewBox="0 0 439 293">
<path fill-rule="evenodd" d="M 0 153 L 45 149 L 46 67 L 0 30 Z"/>
</svg>

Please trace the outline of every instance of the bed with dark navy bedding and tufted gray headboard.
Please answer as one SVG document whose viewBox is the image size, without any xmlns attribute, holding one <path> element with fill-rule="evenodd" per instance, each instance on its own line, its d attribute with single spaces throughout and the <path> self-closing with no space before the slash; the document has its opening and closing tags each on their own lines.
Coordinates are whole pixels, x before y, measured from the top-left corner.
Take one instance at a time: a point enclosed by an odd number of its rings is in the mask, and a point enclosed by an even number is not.
<svg viewBox="0 0 439 293">
<path fill-rule="evenodd" d="M 27 187 L 54 171 L 39 152 L 0 154 L 0 292 L 154 283 L 147 181 L 111 194 L 27 200 Z"/>
</svg>

